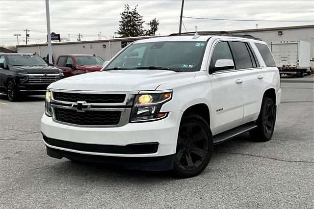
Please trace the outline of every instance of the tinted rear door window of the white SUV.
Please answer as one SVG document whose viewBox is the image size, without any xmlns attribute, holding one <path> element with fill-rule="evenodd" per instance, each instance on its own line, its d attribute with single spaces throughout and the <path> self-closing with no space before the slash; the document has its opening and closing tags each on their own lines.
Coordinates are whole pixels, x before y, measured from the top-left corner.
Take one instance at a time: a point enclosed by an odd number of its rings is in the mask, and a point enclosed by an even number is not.
<svg viewBox="0 0 314 209">
<path fill-rule="evenodd" d="M 235 55 L 236 69 L 253 68 L 250 53 L 245 42 L 232 42 L 232 52 Z"/>
</svg>

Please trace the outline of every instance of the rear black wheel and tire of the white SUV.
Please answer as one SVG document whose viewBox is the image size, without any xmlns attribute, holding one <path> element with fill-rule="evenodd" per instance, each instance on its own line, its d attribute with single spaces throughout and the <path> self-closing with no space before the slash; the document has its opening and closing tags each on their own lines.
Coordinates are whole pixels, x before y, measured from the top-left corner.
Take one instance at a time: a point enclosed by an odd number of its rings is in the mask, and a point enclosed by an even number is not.
<svg viewBox="0 0 314 209">
<path fill-rule="evenodd" d="M 274 133 L 276 121 L 276 106 L 274 102 L 264 97 L 260 115 L 256 121 L 257 128 L 249 131 L 252 139 L 256 141 L 269 141 Z"/>
</svg>

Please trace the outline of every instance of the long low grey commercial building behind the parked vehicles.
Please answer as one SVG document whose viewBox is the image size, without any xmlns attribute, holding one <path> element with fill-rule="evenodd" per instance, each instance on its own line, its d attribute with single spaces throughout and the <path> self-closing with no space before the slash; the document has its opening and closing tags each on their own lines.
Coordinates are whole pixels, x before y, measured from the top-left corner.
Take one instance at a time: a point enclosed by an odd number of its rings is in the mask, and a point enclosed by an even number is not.
<svg viewBox="0 0 314 209">
<path fill-rule="evenodd" d="M 268 45 L 271 41 L 302 40 L 311 43 L 311 57 L 314 57 L 314 25 L 258 28 L 248 30 L 228 31 L 232 34 L 249 34 L 261 38 Z M 96 54 L 109 60 L 122 48 L 133 41 L 149 37 L 115 38 L 95 41 L 76 41 L 52 43 L 52 56 L 55 59 L 60 54 Z M 47 56 L 48 45 L 29 44 L 17 46 L 19 53 L 36 52 L 40 56 Z"/>
</svg>

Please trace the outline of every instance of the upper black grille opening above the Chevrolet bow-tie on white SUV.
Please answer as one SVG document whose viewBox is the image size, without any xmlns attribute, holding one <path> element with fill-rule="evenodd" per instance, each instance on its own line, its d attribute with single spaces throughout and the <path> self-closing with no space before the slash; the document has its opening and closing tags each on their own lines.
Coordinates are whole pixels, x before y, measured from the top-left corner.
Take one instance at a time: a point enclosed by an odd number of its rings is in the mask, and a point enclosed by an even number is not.
<svg viewBox="0 0 314 209">
<path fill-rule="evenodd" d="M 78 94 L 53 92 L 53 99 L 65 102 L 76 103 L 78 101 L 85 101 L 86 103 L 123 103 L 125 94 Z"/>
</svg>

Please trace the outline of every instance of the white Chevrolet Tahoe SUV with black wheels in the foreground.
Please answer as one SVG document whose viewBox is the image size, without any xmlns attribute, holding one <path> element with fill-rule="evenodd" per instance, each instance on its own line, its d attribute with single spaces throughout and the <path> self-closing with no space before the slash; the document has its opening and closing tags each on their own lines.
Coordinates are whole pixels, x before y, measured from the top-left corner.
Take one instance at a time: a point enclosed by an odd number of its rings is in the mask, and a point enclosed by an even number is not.
<svg viewBox="0 0 314 209">
<path fill-rule="evenodd" d="M 133 42 L 100 72 L 49 85 L 41 131 L 51 157 L 192 177 L 215 144 L 244 132 L 270 140 L 280 101 L 265 42 L 157 37 Z"/>
</svg>

